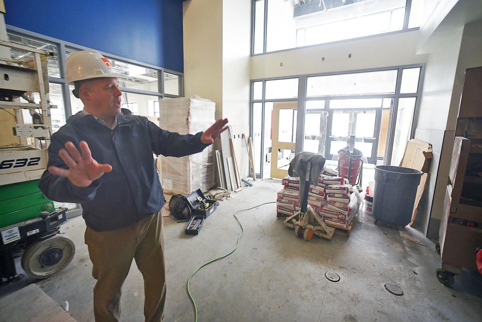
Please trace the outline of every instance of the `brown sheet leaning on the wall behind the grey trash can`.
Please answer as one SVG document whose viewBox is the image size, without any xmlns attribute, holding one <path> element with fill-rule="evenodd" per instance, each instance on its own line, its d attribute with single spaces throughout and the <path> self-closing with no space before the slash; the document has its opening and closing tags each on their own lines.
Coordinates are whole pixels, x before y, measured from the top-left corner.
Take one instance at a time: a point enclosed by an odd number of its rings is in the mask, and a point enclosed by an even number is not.
<svg viewBox="0 0 482 322">
<path fill-rule="evenodd" d="M 423 192 L 427 186 L 429 174 L 428 169 L 430 168 L 430 161 L 432 159 L 432 145 L 427 142 L 412 139 L 407 142 L 405 147 L 405 152 L 403 154 L 400 166 L 404 168 L 410 168 L 415 170 L 420 170 L 425 172 L 420 178 L 420 184 L 417 187 L 417 194 L 415 195 L 415 203 L 413 206 L 412 220 L 410 226 L 413 225 L 415 218 L 417 217 L 417 208 L 422 199 Z"/>
</svg>

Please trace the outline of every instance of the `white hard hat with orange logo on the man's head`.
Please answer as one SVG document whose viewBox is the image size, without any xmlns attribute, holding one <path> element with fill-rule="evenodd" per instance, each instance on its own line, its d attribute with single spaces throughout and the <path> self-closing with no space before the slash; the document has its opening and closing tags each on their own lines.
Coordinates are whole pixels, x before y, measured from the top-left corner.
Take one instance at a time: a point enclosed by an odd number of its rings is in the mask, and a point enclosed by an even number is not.
<svg viewBox="0 0 482 322">
<path fill-rule="evenodd" d="M 65 62 L 67 83 L 78 80 L 121 77 L 112 68 L 110 61 L 95 50 L 81 50 L 73 53 Z"/>
</svg>

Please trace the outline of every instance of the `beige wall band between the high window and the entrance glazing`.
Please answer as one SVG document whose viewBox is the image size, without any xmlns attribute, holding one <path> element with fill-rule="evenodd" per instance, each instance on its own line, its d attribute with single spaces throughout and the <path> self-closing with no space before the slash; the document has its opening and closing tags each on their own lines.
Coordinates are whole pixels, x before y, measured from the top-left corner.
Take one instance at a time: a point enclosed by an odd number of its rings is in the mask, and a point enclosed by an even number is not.
<svg viewBox="0 0 482 322">
<path fill-rule="evenodd" d="M 425 63 L 417 37 L 418 31 L 401 32 L 253 56 L 251 79 Z"/>
</svg>

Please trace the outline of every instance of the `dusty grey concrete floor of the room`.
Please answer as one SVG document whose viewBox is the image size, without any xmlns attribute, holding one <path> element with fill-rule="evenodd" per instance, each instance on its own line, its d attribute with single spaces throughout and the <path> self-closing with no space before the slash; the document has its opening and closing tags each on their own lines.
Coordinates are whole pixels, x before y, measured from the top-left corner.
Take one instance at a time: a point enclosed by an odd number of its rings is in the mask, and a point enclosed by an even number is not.
<svg viewBox="0 0 482 322">
<path fill-rule="evenodd" d="M 240 233 L 232 212 L 274 201 L 280 189 L 280 181 L 270 179 L 222 201 L 198 236 L 186 236 L 185 224 L 164 219 L 166 322 L 194 320 L 186 281 L 201 264 L 232 250 Z M 366 216 L 363 223 L 355 223 L 349 238 L 335 235 L 332 241 L 314 237 L 305 242 L 276 219 L 274 204 L 238 217 L 245 229 L 238 249 L 201 269 L 191 281 L 200 322 L 480 321 L 481 278 L 467 271 L 455 277 L 453 288 L 444 287 L 435 277 L 440 258 L 434 244 L 414 229 L 375 226 Z M 68 300 L 69 313 L 78 322 L 93 321 L 94 280 L 84 229 L 81 218 L 63 225 L 62 232 L 77 246 L 75 258 L 62 272 L 36 282 L 59 305 Z M 328 270 L 341 280 L 326 280 Z M 29 282 L 25 278 L 10 291 Z M 398 284 L 404 295 L 392 295 L 385 283 Z M 133 264 L 123 289 L 122 321 L 144 320 L 142 285 Z"/>
</svg>

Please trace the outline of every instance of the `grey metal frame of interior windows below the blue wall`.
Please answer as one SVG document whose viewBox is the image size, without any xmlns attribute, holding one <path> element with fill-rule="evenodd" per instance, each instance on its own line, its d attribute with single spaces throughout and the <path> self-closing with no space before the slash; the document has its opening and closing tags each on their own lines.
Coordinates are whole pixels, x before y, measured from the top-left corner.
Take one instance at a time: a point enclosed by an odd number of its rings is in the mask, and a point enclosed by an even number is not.
<svg viewBox="0 0 482 322">
<path fill-rule="evenodd" d="M 94 48 L 88 48 L 82 45 L 74 44 L 71 42 L 63 41 L 57 38 L 45 36 L 42 34 L 38 34 L 26 29 L 18 28 L 12 25 L 7 25 L 6 24 L 6 29 L 7 33 L 11 33 L 20 37 L 28 37 L 32 38 L 38 41 L 47 41 L 49 43 L 54 44 L 57 47 L 57 53 L 58 53 L 58 61 L 59 61 L 59 71 L 60 71 L 60 77 L 52 77 L 49 76 L 49 83 L 55 83 L 55 84 L 60 84 L 62 88 L 62 99 L 64 101 L 64 114 L 65 114 L 65 120 L 67 120 L 69 117 L 72 116 L 72 108 L 71 108 L 71 101 L 70 101 L 70 89 L 69 89 L 69 84 L 67 84 L 67 80 L 65 77 L 65 61 L 66 61 L 66 51 L 65 47 L 70 47 L 73 49 L 78 49 L 78 50 L 89 50 L 89 49 L 94 49 Z M 96 49 L 95 49 L 96 50 Z M 106 53 L 103 51 L 99 51 L 102 55 L 104 55 L 106 58 L 111 58 L 115 59 L 124 63 L 129 63 L 129 64 L 134 64 L 140 67 L 147 67 L 151 69 L 155 69 L 158 73 L 158 91 L 147 91 L 147 90 L 141 90 L 141 89 L 134 89 L 134 88 L 127 88 L 127 87 L 121 87 L 121 91 L 123 92 L 128 92 L 128 93 L 133 93 L 133 94 L 142 94 L 142 95 L 151 95 L 151 96 L 157 96 L 158 99 L 164 98 L 164 97 L 184 97 L 184 73 L 177 72 L 171 69 L 163 68 L 160 66 L 155 66 L 147 63 L 143 63 L 140 61 L 136 61 L 133 59 L 129 58 L 124 58 L 118 55 L 113 55 L 110 53 Z M 178 81 L 178 86 L 179 86 L 179 95 L 173 95 L 173 94 L 166 94 L 164 92 L 164 72 L 168 72 L 170 74 L 177 75 L 179 77 Z M 82 207 L 80 204 L 77 204 L 76 208 L 69 209 L 66 213 L 67 218 L 73 218 L 76 216 L 79 216 L 82 214 Z"/>
</svg>

